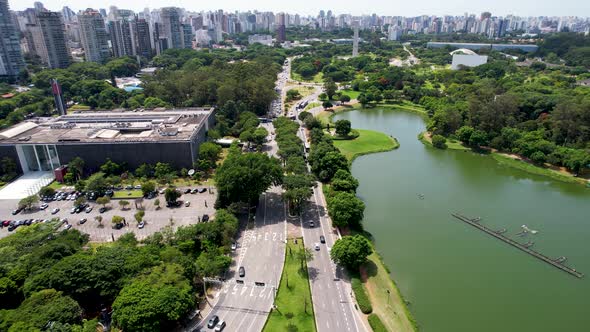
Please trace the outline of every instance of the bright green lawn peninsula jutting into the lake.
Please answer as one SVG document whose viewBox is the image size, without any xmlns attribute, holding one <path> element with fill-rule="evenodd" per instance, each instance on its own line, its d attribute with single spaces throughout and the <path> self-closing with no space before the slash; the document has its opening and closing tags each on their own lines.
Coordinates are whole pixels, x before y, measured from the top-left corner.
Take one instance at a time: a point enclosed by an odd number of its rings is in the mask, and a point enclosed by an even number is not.
<svg viewBox="0 0 590 332">
<path fill-rule="evenodd" d="M 359 137 L 355 139 L 334 140 L 334 146 L 336 146 L 349 161 L 364 154 L 384 152 L 399 147 L 399 143 L 395 138 L 387 136 L 384 133 L 366 129 L 357 129 L 357 131 L 359 132 Z"/>
</svg>

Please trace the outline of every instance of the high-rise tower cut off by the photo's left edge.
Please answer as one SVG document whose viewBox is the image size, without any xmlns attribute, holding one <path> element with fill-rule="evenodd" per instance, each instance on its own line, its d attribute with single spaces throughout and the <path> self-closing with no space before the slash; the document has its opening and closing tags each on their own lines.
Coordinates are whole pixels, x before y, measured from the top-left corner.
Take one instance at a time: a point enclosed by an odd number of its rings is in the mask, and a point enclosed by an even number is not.
<svg viewBox="0 0 590 332">
<path fill-rule="evenodd" d="M 25 68 L 8 0 L 0 0 L 0 77 L 14 79 Z"/>
</svg>

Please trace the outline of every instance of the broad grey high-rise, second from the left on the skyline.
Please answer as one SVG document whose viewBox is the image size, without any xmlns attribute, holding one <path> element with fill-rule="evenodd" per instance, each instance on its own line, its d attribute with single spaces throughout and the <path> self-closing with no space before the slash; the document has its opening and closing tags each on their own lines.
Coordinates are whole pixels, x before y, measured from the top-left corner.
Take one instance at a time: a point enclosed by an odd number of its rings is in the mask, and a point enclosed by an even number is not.
<svg viewBox="0 0 590 332">
<path fill-rule="evenodd" d="M 49 68 L 66 68 L 70 53 L 66 44 L 65 26 L 58 12 L 37 13 L 37 24 L 29 27 L 35 51 Z"/>
</svg>

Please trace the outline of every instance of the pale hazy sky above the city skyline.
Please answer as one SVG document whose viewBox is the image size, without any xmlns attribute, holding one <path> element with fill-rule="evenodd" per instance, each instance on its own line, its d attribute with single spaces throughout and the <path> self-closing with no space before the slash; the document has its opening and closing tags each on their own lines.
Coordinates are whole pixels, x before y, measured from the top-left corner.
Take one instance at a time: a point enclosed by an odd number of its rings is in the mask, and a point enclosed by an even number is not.
<svg viewBox="0 0 590 332">
<path fill-rule="evenodd" d="M 479 14 L 490 11 L 493 15 L 505 16 L 590 16 L 590 0 L 45 0 L 49 10 L 69 6 L 74 11 L 85 8 L 105 8 L 115 5 L 135 11 L 145 7 L 183 7 L 188 10 L 260 10 L 317 15 L 320 9 L 335 14 L 372 14 L 417 16 L 462 15 L 465 12 Z M 33 7 L 30 0 L 8 0 L 14 10 Z"/>
</svg>

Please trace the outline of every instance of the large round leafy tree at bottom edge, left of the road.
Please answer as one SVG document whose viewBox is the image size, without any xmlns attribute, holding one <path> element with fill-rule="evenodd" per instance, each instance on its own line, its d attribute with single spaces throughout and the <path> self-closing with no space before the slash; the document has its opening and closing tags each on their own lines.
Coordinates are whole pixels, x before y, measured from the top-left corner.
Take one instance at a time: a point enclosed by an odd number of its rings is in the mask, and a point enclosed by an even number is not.
<svg viewBox="0 0 590 332">
<path fill-rule="evenodd" d="M 124 331 L 168 330 L 194 303 L 184 269 L 162 264 L 123 287 L 113 303 L 113 323 Z"/>
</svg>

